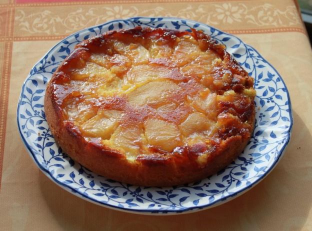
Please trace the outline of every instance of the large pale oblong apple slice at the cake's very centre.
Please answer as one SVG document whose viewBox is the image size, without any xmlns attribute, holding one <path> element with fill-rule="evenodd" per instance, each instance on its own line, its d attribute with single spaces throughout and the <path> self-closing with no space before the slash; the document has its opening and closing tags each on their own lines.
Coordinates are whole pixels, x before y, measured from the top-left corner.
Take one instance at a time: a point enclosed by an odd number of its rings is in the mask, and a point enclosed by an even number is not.
<svg viewBox="0 0 312 231">
<path fill-rule="evenodd" d="M 164 104 L 170 92 L 178 88 L 171 81 L 152 81 L 131 91 L 128 100 L 132 105 Z"/>
</svg>

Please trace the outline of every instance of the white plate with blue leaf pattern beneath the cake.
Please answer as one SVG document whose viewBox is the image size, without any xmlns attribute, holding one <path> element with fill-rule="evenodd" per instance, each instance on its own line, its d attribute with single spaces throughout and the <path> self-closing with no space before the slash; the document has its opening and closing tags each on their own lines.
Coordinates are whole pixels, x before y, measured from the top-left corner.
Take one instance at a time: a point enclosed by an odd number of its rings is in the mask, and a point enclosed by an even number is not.
<svg viewBox="0 0 312 231">
<path fill-rule="evenodd" d="M 203 30 L 255 79 L 256 122 L 244 151 L 217 174 L 173 187 L 143 187 L 116 182 L 74 162 L 55 144 L 45 120 L 43 98 L 47 81 L 74 46 L 108 30 L 137 25 Z M 196 21 L 169 17 L 133 17 L 106 22 L 69 35 L 30 70 L 17 107 L 19 132 L 39 168 L 67 191 L 97 204 L 130 212 L 179 213 L 212 207 L 255 185 L 276 165 L 289 141 L 292 116 L 287 88 L 277 71 L 239 38 Z"/>
</svg>

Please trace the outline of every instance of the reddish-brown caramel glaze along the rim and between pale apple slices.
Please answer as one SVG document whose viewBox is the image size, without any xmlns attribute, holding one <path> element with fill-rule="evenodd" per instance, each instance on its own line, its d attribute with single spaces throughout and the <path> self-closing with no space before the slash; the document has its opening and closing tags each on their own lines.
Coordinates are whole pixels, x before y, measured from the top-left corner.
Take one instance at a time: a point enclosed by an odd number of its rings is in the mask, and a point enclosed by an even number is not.
<svg viewBox="0 0 312 231">
<path fill-rule="evenodd" d="M 63 120 L 65 127 L 72 136 L 79 136 L 83 138 L 81 131 L 74 125 L 72 121 L 66 120 L 66 115 L 62 112 L 68 100 L 75 101 L 76 104 L 83 101 L 86 96 L 70 86 L 71 77 L 70 72 L 83 68 L 90 58 L 91 54 L 101 53 L 113 55 L 117 53 L 113 49 L 112 40 L 119 40 L 126 44 L 139 43 L 144 47 L 150 46 L 151 39 L 157 40 L 159 45 L 167 44 L 174 47 L 177 44 L 177 38 L 190 35 L 197 40 L 198 45 L 202 51 L 213 51 L 223 62 L 215 63 L 210 71 L 211 78 L 205 84 L 211 92 L 217 95 L 223 95 L 227 90 L 233 90 L 235 95 L 224 96 L 224 99 L 218 100 L 217 104 L 217 122 L 221 125 L 217 126 L 212 132 L 212 135 L 207 142 L 197 143 L 193 145 L 178 146 L 172 152 L 164 151 L 161 148 L 149 145 L 150 153 L 140 153 L 136 156 L 136 161 L 146 165 L 164 164 L 167 162 L 174 162 L 175 165 L 188 162 L 195 168 L 200 166 L 195 160 L 203 153 L 208 153 L 207 162 L 213 159 L 214 156 L 219 155 L 228 149 L 228 142 L 235 139 L 242 143 L 250 137 L 250 132 L 253 129 L 254 120 L 254 103 L 253 100 L 243 94 L 244 89 L 252 88 L 253 79 L 248 76 L 247 72 L 239 66 L 239 64 L 225 51 L 222 44 L 217 44 L 208 35 L 201 31 L 192 30 L 177 31 L 162 28 L 141 28 L 135 27 L 128 30 L 111 31 L 92 37 L 82 41 L 76 45 L 74 51 L 63 61 L 59 68 L 53 74 L 49 83 L 50 91 L 53 92 L 54 108 Z M 115 58 L 114 63 L 122 64 L 123 61 Z M 225 64 L 224 64 L 225 63 Z M 107 64 L 109 65 L 109 63 Z M 146 117 L 152 115 L 166 121 L 180 124 L 190 112 L 190 108 L 182 102 L 185 97 L 194 95 L 199 89 L 202 89 L 200 84 L 201 79 L 193 75 L 182 74 L 179 69 L 172 63 L 170 59 L 166 58 L 150 58 L 149 65 L 167 66 L 170 67 L 170 73 L 167 78 L 176 82 L 178 89 L 173 89 L 170 92 L 169 100 L 176 102 L 178 106 L 172 111 L 159 113 L 153 106 L 144 105 L 137 109 L 129 105 L 126 97 L 122 95 L 111 96 L 96 96 L 88 101 L 90 108 L 96 111 L 98 109 L 114 109 L 125 112 L 125 124 L 135 124 L 143 121 Z M 224 74 L 230 73 L 227 79 L 224 80 Z M 214 84 L 217 80 L 222 80 L 222 84 Z M 237 120 L 236 117 L 239 119 Z M 60 119 L 61 120 L 61 119 Z M 119 151 L 110 149 L 100 142 L 99 138 L 91 138 L 87 145 L 102 149 L 105 154 L 115 156 L 118 158 L 125 158 Z M 241 150 L 240 150 L 241 151 Z"/>
</svg>

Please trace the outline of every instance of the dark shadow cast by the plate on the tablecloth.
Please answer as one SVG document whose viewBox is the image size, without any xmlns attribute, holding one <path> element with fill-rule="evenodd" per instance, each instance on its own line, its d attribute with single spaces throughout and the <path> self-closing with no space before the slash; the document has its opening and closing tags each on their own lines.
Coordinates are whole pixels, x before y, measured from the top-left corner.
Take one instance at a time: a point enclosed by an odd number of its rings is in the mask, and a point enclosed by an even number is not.
<svg viewBox="0 0 312 231">
<path fill-rule="evenodd" d="M 275 169 L 243 195 L 219 206 L 177 216 L 150 216 L 101 207 L 78 198 L 39 173 L 42 195 L 65 230 L 299 230 L 312 203 L 312 143 L 304 121 L 293 111 L 292 137 Z"/>
</svg>

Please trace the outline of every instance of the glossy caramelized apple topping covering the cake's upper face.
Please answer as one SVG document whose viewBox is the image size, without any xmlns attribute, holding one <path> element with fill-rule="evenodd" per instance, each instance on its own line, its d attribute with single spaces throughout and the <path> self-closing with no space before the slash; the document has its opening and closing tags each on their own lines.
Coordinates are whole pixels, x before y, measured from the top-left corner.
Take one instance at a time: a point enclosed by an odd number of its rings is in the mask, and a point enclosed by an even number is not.
<svg viewBox="0 0 312 231">
<path fill-rule="evenodd" d="M 201 31 L 135 27 L 89 38 L 52 83 L 64 119 L 129 160 L 198 157 L 253 125 L 253 79 Z"/>
</svg>

